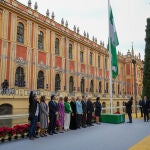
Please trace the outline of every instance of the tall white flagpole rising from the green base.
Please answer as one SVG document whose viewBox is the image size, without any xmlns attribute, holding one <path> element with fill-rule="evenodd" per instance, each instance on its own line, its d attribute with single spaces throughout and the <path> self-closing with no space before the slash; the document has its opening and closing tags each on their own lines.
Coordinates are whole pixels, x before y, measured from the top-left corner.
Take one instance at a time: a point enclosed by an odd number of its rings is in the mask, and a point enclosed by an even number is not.
<svg viewBox="0 0 150 150">
<path fill-rule="evenodd" d="M 112 54 L 110 43 L 110 1 L 108 0 L 108 31 L 109 31 L 109 83 L 110 83 L 110 113 L 113 113 L 113 100 L 112 100 Z"/>
</svg>

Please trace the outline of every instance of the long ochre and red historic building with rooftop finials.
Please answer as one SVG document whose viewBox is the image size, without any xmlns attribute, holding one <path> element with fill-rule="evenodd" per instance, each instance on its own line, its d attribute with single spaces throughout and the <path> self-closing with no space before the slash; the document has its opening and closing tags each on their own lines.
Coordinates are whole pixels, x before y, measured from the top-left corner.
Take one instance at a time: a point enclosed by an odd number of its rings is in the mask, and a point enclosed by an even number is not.
<svg viewBox="0 0 150 150">
<path fill-rule="evenodd" d="M 119 75 L 113 80 L 113 105 L 122 106 L 134 95 L 136 60 L 137 97 L 142 92 L 143 62 L 134 50 L 127 55 L 118 52 Z M 79 28 L 68 28 L 62 19 L 49 17 L 16 0 L 0 0 L 0 83 L 9 82 L 9 90 L 1 89 L 0 105 L 12 106 L 13 113 L 25 113 L 28 94 L 101 97 L 109 107 L 109 54 L 104 43 L 80 34 Z M 9 107 L 10 107 L 9 106 Z"/>
</svg>

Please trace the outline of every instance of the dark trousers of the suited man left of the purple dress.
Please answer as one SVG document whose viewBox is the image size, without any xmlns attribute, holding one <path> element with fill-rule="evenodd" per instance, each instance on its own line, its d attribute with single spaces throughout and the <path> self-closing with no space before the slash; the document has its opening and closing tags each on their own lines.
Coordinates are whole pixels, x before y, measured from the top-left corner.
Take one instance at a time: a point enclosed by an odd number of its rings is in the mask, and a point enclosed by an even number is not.
<svg viewBox="0 0 150 150">
<path fill-rule="evenodd" d="M 54 133 L 55 128 L 56 128 L 56 115 L 55 114 L 49 114 L 49 127 L 48 127 L 48 132 L 49 133 Z"/>
</svg>

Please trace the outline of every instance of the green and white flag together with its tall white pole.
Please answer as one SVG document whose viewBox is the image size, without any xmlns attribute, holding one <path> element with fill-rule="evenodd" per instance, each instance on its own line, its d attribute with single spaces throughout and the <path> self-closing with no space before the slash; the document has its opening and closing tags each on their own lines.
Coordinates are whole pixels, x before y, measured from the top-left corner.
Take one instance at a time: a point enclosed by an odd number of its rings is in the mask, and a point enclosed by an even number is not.
<svg viewBox="0 0 150 150">
<path fill-rule="evenodd" d="M 118 75 L 118 57 L 116 52 L 116 46 L 119 45 L 117 32 L 115 28 L 114 18 L 110 2 L 108 0 L 108 28 L 109 28 L 109 40 L 108 40 L 108 50 L 110 59 L 110 112 L 113 113 L 113 103 L 112 103 L 112 77 L 115 79 Z"/>
</svg>

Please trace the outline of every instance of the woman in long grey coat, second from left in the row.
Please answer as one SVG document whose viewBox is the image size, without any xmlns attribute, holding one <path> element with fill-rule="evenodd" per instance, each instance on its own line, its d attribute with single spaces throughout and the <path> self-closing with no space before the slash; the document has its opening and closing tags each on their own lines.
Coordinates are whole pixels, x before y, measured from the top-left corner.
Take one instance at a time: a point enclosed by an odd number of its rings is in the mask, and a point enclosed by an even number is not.
<svg viewBox="0 0 150 150">
<path fill-rule="evenodd" d="M 45 96 L 40 98 L 40 136 L 46 136 L 48 128 L 48 105 L 45 102 Z"/>
</svg>

